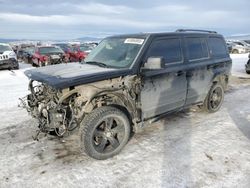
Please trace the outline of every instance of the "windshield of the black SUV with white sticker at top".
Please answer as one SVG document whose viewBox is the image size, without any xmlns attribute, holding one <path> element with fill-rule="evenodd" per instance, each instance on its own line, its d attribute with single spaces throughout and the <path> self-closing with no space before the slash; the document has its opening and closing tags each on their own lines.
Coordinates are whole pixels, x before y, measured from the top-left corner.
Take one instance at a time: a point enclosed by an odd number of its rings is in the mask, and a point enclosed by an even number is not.
<svg viewBox="0 0 250 188">
<path fill-rule="evenodd" d="M 106 38 L 85 59 L 85 62 L 99 62 L 107 67 L 129 67 L 140 51 L 142 38 Z"/>
</svg>

